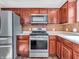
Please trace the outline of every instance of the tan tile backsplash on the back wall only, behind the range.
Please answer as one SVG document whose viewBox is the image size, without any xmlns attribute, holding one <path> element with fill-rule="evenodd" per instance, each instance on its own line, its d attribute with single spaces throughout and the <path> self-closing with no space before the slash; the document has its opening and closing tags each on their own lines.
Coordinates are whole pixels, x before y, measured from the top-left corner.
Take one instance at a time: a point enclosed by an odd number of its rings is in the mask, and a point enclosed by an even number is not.
<svg viewBox="0 0 79 59">
<path fill-rule="evenodd" d="M 64 25 L 61 24 L 47 24 L 47 25 L 23 25 L 23 31 L 31 31 L 33 28 L 46 28 L 47 31 L 63 31 Z"/>
</svg>

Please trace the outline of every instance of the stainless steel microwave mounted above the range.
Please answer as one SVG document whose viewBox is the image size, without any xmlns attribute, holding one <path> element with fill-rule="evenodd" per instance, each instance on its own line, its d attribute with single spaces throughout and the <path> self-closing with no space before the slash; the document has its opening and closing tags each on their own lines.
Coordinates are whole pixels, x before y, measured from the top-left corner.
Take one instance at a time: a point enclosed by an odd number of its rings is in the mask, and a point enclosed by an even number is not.
<svg viewBox="0 0 79 59">
<path fill-rule="evenodd" d="M 32 14 L 31 24 L 47 24 L 48 14 Z"/>
</svg>

